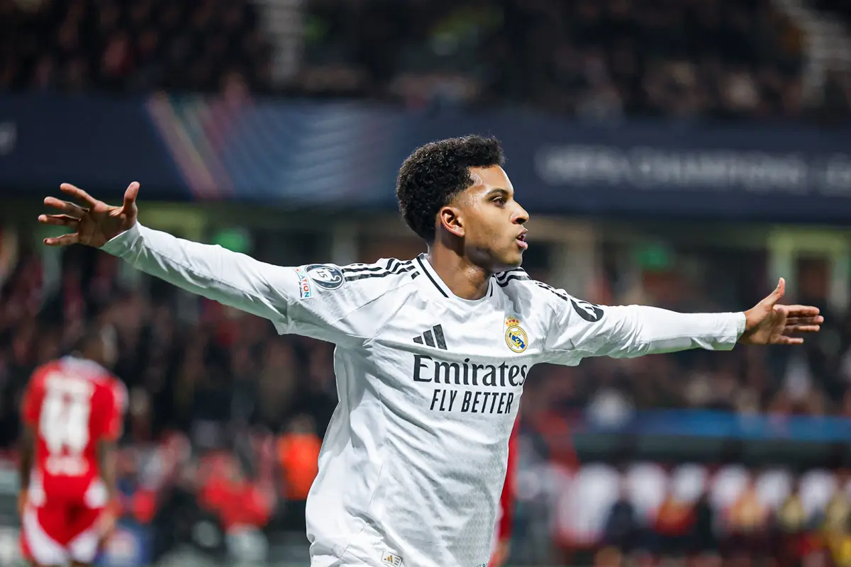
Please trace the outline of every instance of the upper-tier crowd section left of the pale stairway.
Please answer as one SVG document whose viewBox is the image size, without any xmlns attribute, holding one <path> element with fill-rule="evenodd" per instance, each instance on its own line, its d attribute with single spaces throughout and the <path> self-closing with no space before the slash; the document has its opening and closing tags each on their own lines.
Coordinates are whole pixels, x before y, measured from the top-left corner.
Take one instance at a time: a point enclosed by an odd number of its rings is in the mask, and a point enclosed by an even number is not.
<svg viewBox="0 0 851 567">
<path fill-rule="evenodd" d="M 0 90 L 262 91 L 270 57 L 243 0 L 0 1 Z"/>
</svg>

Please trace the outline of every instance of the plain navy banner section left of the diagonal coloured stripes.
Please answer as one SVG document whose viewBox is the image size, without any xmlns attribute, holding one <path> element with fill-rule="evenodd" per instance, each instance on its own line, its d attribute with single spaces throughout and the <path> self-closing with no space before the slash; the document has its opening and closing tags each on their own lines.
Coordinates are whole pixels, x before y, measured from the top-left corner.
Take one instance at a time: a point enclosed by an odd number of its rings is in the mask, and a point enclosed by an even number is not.
<svg viewBox="0 0 851 567">
<path fill-rule="evenodd" d="M 185 200 L 186 184 L 140 99 L 0 95 L 0 191 L 39 196 L 63 182 Z"/>
</svg>

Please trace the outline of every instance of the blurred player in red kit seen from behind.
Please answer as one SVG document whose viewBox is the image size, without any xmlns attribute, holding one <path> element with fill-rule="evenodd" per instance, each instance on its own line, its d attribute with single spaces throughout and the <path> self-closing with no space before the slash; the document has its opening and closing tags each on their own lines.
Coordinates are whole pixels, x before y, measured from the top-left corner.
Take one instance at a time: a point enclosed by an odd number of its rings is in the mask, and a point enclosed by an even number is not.
<svg viewBox="0 0 851 567">
<path fill-rule="evenodd" d="M 38 368 L 27 386 L 20 443 L 21 547 L 33 565 L 88 565 L 115 525 L 115 444 L 127 394 L 107 367 L 111 329 Z"/>
</svg>

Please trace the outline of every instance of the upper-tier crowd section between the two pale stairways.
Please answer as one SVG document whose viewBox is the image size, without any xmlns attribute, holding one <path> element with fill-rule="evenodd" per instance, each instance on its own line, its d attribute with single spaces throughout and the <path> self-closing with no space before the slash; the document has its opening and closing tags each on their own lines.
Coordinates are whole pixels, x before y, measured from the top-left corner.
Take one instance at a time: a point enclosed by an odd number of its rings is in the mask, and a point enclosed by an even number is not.
<svg viewBox="0 0 851 567">
<path fill-rule="evenodd" d="M 315 0 L 308 14 L 314 93 L 591 119 L 803 112 L 800 33 L 767 0 Z"/>
</svg>

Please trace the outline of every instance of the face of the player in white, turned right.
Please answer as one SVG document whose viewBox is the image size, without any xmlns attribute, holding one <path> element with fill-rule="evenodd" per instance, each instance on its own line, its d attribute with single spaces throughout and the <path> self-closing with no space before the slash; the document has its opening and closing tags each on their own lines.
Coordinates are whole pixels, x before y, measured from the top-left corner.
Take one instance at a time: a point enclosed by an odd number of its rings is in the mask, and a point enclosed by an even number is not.
<svg viewBox="0 0 851 567">
<path fill-rule="evenodd" d="M 517 268 L 528 247 L 528 213 L 502 167 L 471 167 L 470 174 L 473 184 L 457 199 L 465 255 L 493 272 Z"/>
</svg>

